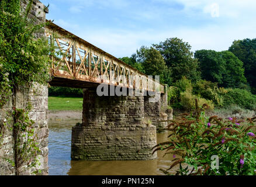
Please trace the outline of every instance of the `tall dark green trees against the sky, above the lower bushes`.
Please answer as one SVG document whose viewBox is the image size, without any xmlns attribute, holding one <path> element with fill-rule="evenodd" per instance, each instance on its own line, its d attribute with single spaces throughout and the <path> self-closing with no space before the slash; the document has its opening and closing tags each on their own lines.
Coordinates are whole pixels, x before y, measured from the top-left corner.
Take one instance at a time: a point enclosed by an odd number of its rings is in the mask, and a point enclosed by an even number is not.
<svg viewBox="0 0 256 187">
<path fill-rule="evenodd" d="M 197 50 L 182 39 L 169 38 L 142 46 L 120 60 L 147 75 L 160 75 L 161 83 L 174 85 L 182 77 L 200 79 L 224 88 L 250 88 L 256 93 L 256 39 L 235 40 L 226 51 Z"/>
</svg>

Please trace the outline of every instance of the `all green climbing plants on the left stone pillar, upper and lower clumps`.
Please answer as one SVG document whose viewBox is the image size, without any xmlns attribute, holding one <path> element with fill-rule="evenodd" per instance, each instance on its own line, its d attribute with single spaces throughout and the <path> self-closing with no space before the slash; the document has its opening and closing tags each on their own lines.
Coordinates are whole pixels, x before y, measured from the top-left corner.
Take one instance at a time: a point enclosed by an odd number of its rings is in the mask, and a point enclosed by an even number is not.
<svg viewBox="0 0 256 187">
<path fill-rule="evenodd" d="M 43 27 L 37 18 L 30 15 L 33 1 L 27 2 L 22 11 L 19 0 L 0 1 L 0 109 L 11 96 L 16 97 L 18 88 L 29 87 L 33 82 L 46 84 L 49 79 L 49 62 L 51 46 L 44 37 Z M 43 32 L 43 33 L 42 33 Z M 34 122 L 29 119 L 32 106 L 15 108 L 13 105 L 10 119 L 1 124 L 1 142 L 5 128 L 13 131 L 14 160 L 7 160 L 15 167 L 16 175 L 25 168 L 32 168 L 34 174 L 40 169 L 38 153 L 41 151 L 34 133 Z M 4 110 L 5 111 L 5 110 Z M 8 125 L 7 125 L 8 123 Z M 9 125 L 10 124 L 10 125 Z"/>
</svg>

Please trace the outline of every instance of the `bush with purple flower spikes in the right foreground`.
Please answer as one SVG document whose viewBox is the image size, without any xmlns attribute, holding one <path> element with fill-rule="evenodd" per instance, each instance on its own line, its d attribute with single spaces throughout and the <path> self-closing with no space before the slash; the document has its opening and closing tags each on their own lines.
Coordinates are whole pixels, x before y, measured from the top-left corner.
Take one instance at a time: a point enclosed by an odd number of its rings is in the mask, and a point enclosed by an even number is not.
<svg viewBox="0 0 256 187">
<path fill-rule="evenodd" d="M 171 166 L 161 171 L 171 175 L 168 171 L 179 165 L 175 175 L 256 175 L 255 121 L 256 117 L 248 123 L 206 117 L 196 106 L 195 116 L 183 114 L 173 120 L 169 141 L 155 146 L 154 151 L 174 155 Z"/>
</svg>

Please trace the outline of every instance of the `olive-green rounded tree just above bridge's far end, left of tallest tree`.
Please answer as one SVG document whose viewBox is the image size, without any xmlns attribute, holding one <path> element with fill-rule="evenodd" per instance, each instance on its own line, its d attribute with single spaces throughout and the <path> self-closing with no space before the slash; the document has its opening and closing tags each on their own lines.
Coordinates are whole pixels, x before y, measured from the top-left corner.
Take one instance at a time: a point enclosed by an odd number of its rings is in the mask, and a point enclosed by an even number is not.
<svg viewBox="0 0 256 187">
<path fill-rule="evenodd" d="M 153 47 L 144 54 L 143 68 L 147 75 L 159 75 L 161 83 L 168 83 L 169 70 L 161 53 Z"/>
</svg>

